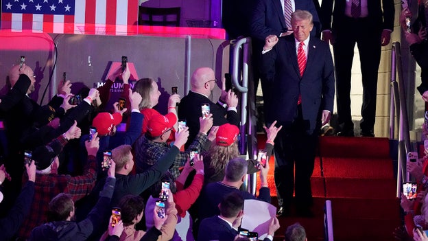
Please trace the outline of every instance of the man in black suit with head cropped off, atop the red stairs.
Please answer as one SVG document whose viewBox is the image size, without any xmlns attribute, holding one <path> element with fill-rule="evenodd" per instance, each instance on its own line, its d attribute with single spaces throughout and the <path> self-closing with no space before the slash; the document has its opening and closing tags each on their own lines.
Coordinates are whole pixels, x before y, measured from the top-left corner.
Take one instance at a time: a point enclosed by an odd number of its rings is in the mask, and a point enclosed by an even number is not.
<svg viewBox="0 0 428 241">
<path fill-rule="evenodd" d="M 394 30 L 394 1 L 324 0 L 321 8 L 323 40 L 333 45 L 335 56 L 337 114 L 339 127 L 342 129 L 338 135 L 354 136 L 350 111 L 350 76 L 357 43 L 363 82 L 361 136 L 375 137 L 373 127 L 376 116 L 377 71 L 381 60 L 381 46 L 390 43 L 390 35 Z"/>
</svg>

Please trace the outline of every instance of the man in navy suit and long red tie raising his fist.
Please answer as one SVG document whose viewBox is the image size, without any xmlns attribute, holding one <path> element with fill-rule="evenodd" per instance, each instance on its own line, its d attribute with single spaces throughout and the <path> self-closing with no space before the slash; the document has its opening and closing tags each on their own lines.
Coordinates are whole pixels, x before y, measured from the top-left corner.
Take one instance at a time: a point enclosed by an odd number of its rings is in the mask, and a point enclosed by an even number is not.
<svg viewBox="0 0 428 241">
<path fill-rule="evenodd" d="M 294 184 L 298 215 L 311 216 L 311 175 L 321 124 L 333 111 L 334 73 L 329 45 L 310 36 L 312 15 L 292 14 L 294 34 L 266 38 L 262 51 L 265 121 L 283 126 L 275 139 L 278 216 L 289 215 Z M 296 178 L 294 179 L 294 166 Z"/>
</svg>

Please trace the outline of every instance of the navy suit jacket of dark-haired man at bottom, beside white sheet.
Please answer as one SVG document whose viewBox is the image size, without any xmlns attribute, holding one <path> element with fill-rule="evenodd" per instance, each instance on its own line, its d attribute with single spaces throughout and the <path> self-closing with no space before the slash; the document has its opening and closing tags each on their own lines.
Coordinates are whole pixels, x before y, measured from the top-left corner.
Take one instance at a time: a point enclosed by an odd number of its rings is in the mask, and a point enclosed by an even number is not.
<svg viewBox="0 0 428 241">
<path fill-rule="evenodd" d="M 198 241 L 233 241 L 238 235 L 238 231 L 220 219 L 218 216 L 205 218 L 199 226 Z"/>
</svg>

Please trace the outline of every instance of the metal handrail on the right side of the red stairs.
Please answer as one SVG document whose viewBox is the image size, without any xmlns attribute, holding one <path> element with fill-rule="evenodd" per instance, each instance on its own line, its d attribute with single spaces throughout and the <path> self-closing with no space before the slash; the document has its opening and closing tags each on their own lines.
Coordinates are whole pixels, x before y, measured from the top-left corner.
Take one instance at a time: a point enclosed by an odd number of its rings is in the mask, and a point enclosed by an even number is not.
<svg viewBox="0 0 428 241">
<path fill-rule="evenodd" d="M 406 155 L 412 150 L 409 134 L 409 118 L 407 115 L 407 101 L 404 87 L 403 65 L 401 62 L 401 47 L 399 42 L 392 43 L 391 51 L 391 112 L 390 112 L 390 139 L 394 139 L 394 117 L 399 118 L 399 157 L 397 167 L 396 197 L 401 196 L 401 183 L 409 180 L 406 172 Z M 397 73 L 398 71 L 398 73 Z M 396 81 L 396 75 L 399 81 Z M 392 101 L 394 100 L 394 101 Z M 394 115 L 394 110 L 396 115 Z"/>
</svg>

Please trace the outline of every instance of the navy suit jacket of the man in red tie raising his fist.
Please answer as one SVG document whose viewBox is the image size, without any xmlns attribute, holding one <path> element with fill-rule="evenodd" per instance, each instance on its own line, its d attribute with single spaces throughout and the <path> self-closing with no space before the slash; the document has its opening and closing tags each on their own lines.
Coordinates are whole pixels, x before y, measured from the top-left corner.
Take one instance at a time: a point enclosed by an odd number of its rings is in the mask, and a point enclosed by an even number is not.
<svg viewBox="0 0 428 241">
<path fill-rule="evenodd" d="M 305 73 L 300 77 L 294 35 L 280 38 L 274 48 L 261 56 L 262 84 L 267 123 L 290 126 L 297 115 L 299 94 L 308 134 L 320 124 L 320 111 L 333 112 L 335 92 L 333 60 L 329 45 L 311 37 Z"/>
</svg>

